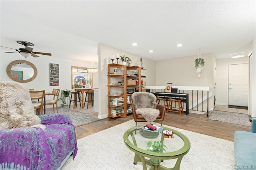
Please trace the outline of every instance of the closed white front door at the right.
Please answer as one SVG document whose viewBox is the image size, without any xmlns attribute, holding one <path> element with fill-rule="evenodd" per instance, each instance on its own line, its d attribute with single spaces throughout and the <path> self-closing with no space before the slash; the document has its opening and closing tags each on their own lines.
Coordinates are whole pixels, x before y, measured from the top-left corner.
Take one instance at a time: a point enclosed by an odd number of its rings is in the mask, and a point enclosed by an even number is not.
<svg viewBox="0 0 256 170">
<path fill-rule="evenodd" d="M 228 66 L 228 105 L 248 107 L 248 64 Z"/>
</svg>

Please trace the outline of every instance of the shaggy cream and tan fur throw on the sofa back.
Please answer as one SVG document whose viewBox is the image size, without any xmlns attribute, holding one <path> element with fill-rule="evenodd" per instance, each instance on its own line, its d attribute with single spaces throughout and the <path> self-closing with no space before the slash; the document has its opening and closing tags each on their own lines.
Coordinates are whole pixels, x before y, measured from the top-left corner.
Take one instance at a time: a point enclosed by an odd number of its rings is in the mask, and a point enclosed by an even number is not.
<svg viewBox="0 0 256 170">
<path fill-rule="evenodd" d="M 0 129 L 40 127 L 41 119 L 35 115 L 29 90 L 18 82 L 0 82 Z"/>
</svg>

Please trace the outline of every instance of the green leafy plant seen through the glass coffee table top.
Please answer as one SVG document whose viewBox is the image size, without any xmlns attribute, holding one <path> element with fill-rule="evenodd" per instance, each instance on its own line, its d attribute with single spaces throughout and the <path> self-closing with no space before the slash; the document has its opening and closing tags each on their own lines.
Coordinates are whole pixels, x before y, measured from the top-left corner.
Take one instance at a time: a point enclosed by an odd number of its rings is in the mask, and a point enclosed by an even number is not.
<svg viewBox="0 0 256 170">
<path fill-rule="evenodd" d="M 152 143 L 152 141 L 148 141 L 147 146 L 148 146 L 147 150 L 151 152 L 162 152 L 162 151 L 166 152 L 165 148 L 167 148 L 167 146 L 164 145 L 163 142 L 161 142 L 160 140 L 159 141 L 155 140 L 154 143 Z M 159 159 L 150 158 L 150 161 L 154 164 L 160 163 Z"/>
</svg>

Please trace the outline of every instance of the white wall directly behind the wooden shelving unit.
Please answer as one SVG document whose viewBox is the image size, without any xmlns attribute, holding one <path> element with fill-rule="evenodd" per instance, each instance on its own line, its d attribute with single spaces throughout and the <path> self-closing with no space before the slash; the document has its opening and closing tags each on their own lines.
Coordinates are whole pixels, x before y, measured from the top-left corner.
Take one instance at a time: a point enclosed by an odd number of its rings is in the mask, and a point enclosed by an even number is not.
<svg viewBox="0 0 256 170">
<path fill-rule="evenodd" d="M 99 116 L 98 118 L 103 119 L 108 116 L 108 80 L 103 80 L 103 76 L 108 75 L 108 64 L 112 63 L 112 55 L 119 53 L 119 55 L 126 55 L 131 60 L 133 65 L 140 65 L 140 56 L 134 55 L 132 53 L 128 53 L 126 51 L 122 51 L 120 49 L 116 49 L 113 47 L 109 47 L 104 44 L 99 44 Z M 119 60 L 120 61 L 120 60 Z M 146 80 L 147 84 L 156 85 L 156 63 L 150 59 L 146 59 L 142 57 L 143 65 L 146 70 L 142 71 L 142 75 L 145 75 L 147 78 L 143 78 Z M 116 60 L 114 61 L 116 63 Z"/>
</svg>

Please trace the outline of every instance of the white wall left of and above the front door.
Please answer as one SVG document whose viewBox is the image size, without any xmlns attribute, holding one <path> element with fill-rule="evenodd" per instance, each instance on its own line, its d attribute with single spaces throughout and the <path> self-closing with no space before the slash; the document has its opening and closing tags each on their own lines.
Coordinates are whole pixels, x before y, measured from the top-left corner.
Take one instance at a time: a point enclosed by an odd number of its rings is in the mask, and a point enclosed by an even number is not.
<svg viewBox="0 0 256 170">
<path fill-rule="evenodd" d="M 216 61 L 216 104 L 228 105 L 228 65 L 248 63 L 248 57 Z"/>
</svg>

